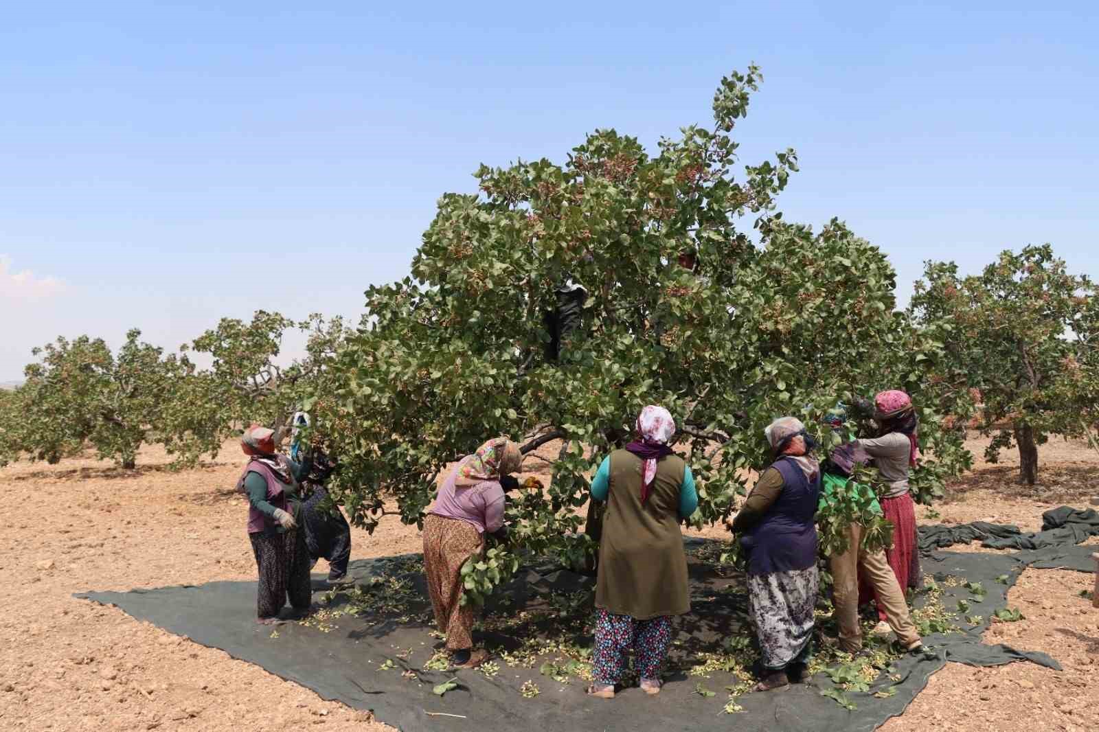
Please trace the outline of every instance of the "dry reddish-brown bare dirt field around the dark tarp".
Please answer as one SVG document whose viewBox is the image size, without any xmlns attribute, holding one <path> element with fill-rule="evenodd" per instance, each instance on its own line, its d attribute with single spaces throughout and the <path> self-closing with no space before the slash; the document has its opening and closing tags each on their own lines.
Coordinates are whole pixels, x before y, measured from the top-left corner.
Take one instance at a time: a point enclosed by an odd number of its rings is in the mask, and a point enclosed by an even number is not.
<svg viewBox="0 0 1099 732">
<path fill-rule="evenodd" d="M 979 457 L 984 444 L 973 441 L 970 450 Z M 928 519 L 925 509 L 921 519 L 1035 530 L 1042 511 L 1083 507 L 1099 492 L 1099 455 L 1085 445 L 1053 442 L 1041 458 L 1043 488 L 1015 485 L 1013 456 L 999 466 L 979 463 L 936 507 L 941 519 Z M 0 470 L 12 499 L 0 535 L 0 576 L 9 587 L 0 615 L 0 729 L 390 729 L 221 651 L 71 597 L 87 589 L 255 578 L 246 502 L 233 491 L 240 453 L 227 445 L 217 462 L 186 473 L 165 470 L 166 462 L 146 450 L 130 472 L 93 459 Z M 353 540 L 353 557 L 420 547 L 415 529 L 396 522 L 373 536 L 356 530 Z M 1064 672 L 950 664 L 881 729 L 1099 729 L 1099 610 L 1080 597 L 1091 581 L 1073 572 L 1026 570 L 1009 597 L 1026 619 L 986 635 L 1045 651 Z"/>
</svg>

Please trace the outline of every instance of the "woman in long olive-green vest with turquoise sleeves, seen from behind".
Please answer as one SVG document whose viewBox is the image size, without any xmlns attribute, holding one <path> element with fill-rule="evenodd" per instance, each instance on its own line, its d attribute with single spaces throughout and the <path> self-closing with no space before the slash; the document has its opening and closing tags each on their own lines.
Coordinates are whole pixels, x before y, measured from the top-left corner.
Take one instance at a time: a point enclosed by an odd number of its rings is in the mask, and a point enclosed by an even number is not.
<svg viewBox="0 0 1099 732">
<path fill-rule="evenodd" d="M 671 615 L 690 610 L 687 555 L 679 522 L 698 508 L 695 478 L 671 452 L 676 433 L 663 407 L 645 407 L 637 437 L 611 453 L 591 481 L 607 503 L 596 580 L 595 683 L 588 694 L 614 697 L 632 648 L 645 694 L 659 694 Z"/>
</svg>

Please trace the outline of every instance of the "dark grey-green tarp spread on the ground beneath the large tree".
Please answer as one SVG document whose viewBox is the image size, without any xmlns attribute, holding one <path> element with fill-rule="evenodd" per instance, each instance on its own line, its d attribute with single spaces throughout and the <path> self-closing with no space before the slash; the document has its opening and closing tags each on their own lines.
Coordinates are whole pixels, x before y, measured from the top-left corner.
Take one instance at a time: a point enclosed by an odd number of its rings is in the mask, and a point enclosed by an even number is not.
<svg viewBox="0 0 1099 732">
<path fill-rule="evenodd" d="M 114 605 L 138 620 L 147 620 L 169 632 L 187 635 L 202 645 L 222 648 L 230 655 L 258 664 L 268 672 L 317 691 L 324 699 L 337 699 L 348 706 L 374 710 L 377 719 L 404 732 L 420 730 L 873 730 L 889 717 L 900 714 L 926 685 L 928 677 L 945 662 L 956 661 L 976 666 L 1001 665 L 1029 659 L 1057 668 L 1044 654 L 1020 653 L 1007 646 L 987 646 L 980 634 L 992 612 L 1004 606 L 1009 585 L 996 581 L 1008 576 L 1013 584 L 1023 565 L 1017 558 L 998 554 L 935 553 L 925 562 L 925 573 L 934 576 L 944 592 L 942 603 L 955 610 L 958 600 L 969 602 L 968 613 L 958 613 L 959 630 L 947 635 L 932 635 L 925 641 L 935 648 L 932 657 L 904 656 L 895 664 L 891 675 L 882 674 L 865 694 L 847 694 L 857 706 L 848 710 L 821 690 L 833 685 L 819 674 L 811 685 L 793 686 L 768 694 L 746 694 L 739 701 L 744 713 L 734 717 L 722 713 L 728 700 L 725 686 L 736 679 L 729 673 L 714 672 L 708 677 L 689 676 L 684 669 L 696 666 L 704 652 L 721 650 L 725 639 L 746 639 L 746 597 L 743 578 L 706 562 L 715 542 L 689 541 L 692 613 L 676 621 L 676 645 L 670 666 L 679 668 L 667 679 L 657 697 L 647 697 L 640 689 L 626 689 L 612 701 L 590 699 L 582 692 L 578 678 L 570 683 L 554 681 L 540 674 L 540 665 L 555 654 L 542 655 L 532 667 L 512 667 L 499 658 L 500 651 L 514 651 L 524 640 L 557 634 L 589 645 L 580 610 L 578 620 L 562 625 L 558 621 L 537 619 L 511 621 L 507 630 L 490 630 L 486 644 L 496 650 L 500 665 L 492 678 L 477 670 L 457 674 L 423 670 L 436 643 L 426 624 L 429 612 L 423 594 L 423 579 L 412 556 L 386 557 L 352 563 L 351 573 L 362 587 L 373 587 L 370 602 L 391 607 L 387 611 L 369 611 L 366 615 L 345 614 L 324 620 L 329 632 L 317 628 L 288 623 L 271 629 L 255 623 L 254 583 L 210 583 L 197 587 L 165 587 L 131 592 L 89 592 L 81 595 L 104 605 Z M 728 576 L 725 576 L 728 575 Z M 371 579 L 378 578 L 378 579 Z M 987 595 L 976 597 L 958 579 L 979 581 Z M 489 608 L 489 619 L 522 618 L 520 611 L 537 613 L 548 607 L 564 607 L 589 590 L 592 580 L 568 570 L 553 567 L 531 568 L 520 573 L 504 591 L 496 596 L 497 606 Z M 314 587 L 323 588 L 321 581 Z M 412 600 L 402 605 L 407 594 Z M 338 609 L 337 596 L 332 607 Z M 547 600 L 547 597 L 550 598 Z M 315 598 L 321 599 L 321 598 Z M 918 599 L 921 605 L 924 597 Z M 556 603 L 556 605 L 554 605 Z M 590 606 L 587 606 L 590 607 Z M 574 609 L 576 606 L 574 605 Z M 506 615 L 500 615 L 501 611 Z M 964 614 L 981 615 L 974 625 Z M 556 624 L 554 624 L 556 623 Z M 489 623 L 491 625 L 491 622 Z M 564 628 L 564 636 L 559 632 Z M 409 652 L 410 653 L 406 653 Z M 393 668 L 379 667 L 390 662 Z M 412 672 L 415 678 L 406 678 Z M 432 687 L 453 676 L 462 686 L 445 697 L 432 694 Z M 898 679 L 899 680 L 891 680 Z M 531 680 L 541 694 L 524 698 L 520 687 Z M 717 692 L 714 697 L 696 694 L 696 685 Z M 872 695 L 893 687 L 888 698 Z M 886 691 L 888 692 L 888 691 Z M 462 714 L 466 719 L 430 717 L 428 712 Z"/>
</svg>

